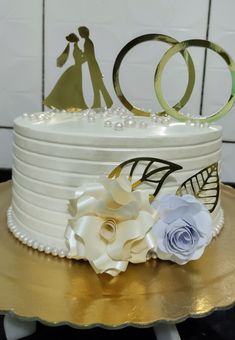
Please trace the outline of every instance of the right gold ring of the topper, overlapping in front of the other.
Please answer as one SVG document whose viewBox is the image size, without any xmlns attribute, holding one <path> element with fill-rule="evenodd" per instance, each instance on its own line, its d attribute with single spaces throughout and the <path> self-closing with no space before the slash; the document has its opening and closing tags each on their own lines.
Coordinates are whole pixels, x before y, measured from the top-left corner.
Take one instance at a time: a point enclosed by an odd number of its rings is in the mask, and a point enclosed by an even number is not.
<svg viewBox="0 0 235 340">
<path fill-rule="evenodd" d="M 232 89 L 231 89 L 231 95 L 228 99 L 228 102 L 217 112 L 212 113 L 209 116 L 192 116 L 188 117 L 186 116 L 183 112 L 179 111 L 179 107 L 171 107 L 169 104 L 166 102 L 166 100 L 163 97 L 162 94 L 162 89 L 161 89 L 161 76 L 162 72 L 164 70 L 165 65 L 169 61 L 169 59 L 176 54 L 177 52 L 182 53 L 183 51 L 186 50 L 186 48 L 190 46 L 196 46 L 196 47 L 205 47 L 209 48 L 212 51 L 218 53 L 226 62 L 228 65 L 231 77 L 232 77 Z M 155 92 L 157 95 L 157 98 L 159 100 L 159 103 L 163 107 L 163 109 L 169 114 L 170 116 L 176 118 L 177 120 L 180 121 L 186 121 L 186 120 L 191 120 L 192 122 L 213 122 L 217 119 L 220 119 L 225 113 L 227 113 L 231 107 L 233 106 L 234 103 L 234 97 L 235 97 L 235 64 L 232 60 L 232 58 L 227 54 L 227 52 L 221 48 L 220 46 L 207 41 L 207 40 L 200 40 L 200 39 L 193 39 L 193 40 L 185 40 L 177 45 L 171 47 L 162 57 L 161 61 L 159 62 L 155 75 L 154 75 L 154 85 L 155 85 Z"/>
</svg>

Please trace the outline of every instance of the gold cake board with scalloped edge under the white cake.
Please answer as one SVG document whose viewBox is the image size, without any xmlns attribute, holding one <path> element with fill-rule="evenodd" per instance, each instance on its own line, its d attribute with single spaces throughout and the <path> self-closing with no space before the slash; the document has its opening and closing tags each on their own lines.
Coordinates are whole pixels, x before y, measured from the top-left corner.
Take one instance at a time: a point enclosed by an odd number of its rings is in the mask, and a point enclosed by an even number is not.
<svg viewBox="0 0 235 340">
<path fill-rule="evenodd" d="M 73 327 L 176 323 L 235 302 L 235 190 L 222 187 L 225 226 L 203 257 L 184 266 L 129 265 L 112 278 L 88 263 L 59 259 L 20 243 L 8 231 L 11 182 L 0 185 L 0 311 Z"/>
</svg>

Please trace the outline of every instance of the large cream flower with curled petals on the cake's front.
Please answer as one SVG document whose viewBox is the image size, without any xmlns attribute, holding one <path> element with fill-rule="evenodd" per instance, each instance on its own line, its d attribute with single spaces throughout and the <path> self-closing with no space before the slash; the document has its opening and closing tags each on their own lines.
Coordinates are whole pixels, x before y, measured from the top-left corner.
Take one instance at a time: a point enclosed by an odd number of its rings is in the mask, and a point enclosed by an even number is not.
<svg viewBox="0 0 235 340">
<path fill-rule="evenodd" d="M 149 251 L 156 249 L 151 229 L 157 211 L 148 193 L 132 191 L 124 176 L 81 186 L 70 200 L 69 213 L 69 256 L 88 260 L 96 273 L 116 276 L 129 262 L 146 262 Z"/>
</svg>

